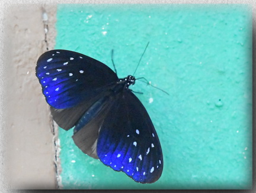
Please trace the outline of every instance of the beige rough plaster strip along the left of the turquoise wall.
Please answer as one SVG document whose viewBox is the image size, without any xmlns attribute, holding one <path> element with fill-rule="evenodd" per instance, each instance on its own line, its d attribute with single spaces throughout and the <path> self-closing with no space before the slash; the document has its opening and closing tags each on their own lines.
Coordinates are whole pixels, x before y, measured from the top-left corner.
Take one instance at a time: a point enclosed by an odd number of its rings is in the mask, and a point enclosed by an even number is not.
<svg viewBox="0 0 256 193">
<path fill-rule="evenodd" d="M 44 6 L 49 18 L 49 49 L 55 44 L 56 6 Z M 46 51 L 42 5 L 8 5 L 5 15 L 7 81 L 6 164 L 11 189 L 55 189 L 55 149 L 49 106 L 35 76 Z"/>
</svg>

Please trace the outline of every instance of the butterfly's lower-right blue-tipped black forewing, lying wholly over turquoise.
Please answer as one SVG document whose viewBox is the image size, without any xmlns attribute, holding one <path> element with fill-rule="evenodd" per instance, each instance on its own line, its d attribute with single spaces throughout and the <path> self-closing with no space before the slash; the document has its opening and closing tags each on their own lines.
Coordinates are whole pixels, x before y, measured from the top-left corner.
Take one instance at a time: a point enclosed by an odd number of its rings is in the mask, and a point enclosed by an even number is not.
<svg viewBox="0 0 256 193">
<path fill-rule="evenodd" d="M 158 135 L 145 107 L 131 91 L 124 90 L 104 117 L 97 156 L 136 182 L 153 183 L 160 178 L 163 158 Z"/>
</svg>

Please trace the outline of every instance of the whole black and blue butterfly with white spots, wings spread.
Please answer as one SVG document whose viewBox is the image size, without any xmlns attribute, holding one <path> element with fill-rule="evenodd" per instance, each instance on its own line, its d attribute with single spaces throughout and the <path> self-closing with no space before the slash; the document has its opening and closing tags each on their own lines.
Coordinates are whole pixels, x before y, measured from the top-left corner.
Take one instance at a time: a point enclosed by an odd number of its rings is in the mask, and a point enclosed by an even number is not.
<svg viewBox="0 0 256 193">
<path fill-rule="evenodd" d="M 129 89 L 138 78 L 118 78 L 100 61 L 68 50 L 42 54 L 36 76 L 53 120 L 65 130 L 75 126 L 72 138 L 82 152 L 136 182 L 160 178 L 164 162 L 158 135 Z"/>
</svg>

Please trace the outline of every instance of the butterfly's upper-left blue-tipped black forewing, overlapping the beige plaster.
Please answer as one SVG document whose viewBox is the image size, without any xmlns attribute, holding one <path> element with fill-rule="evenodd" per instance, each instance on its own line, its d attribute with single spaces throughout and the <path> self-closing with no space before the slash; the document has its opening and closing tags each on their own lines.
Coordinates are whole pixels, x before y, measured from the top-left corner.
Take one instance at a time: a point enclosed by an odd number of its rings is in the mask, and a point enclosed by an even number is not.
<svg viewBox="0 0 256 193">
<path fill-rule="evenodd" d="M 118 80 L 105 64 L 68 50 L 51 50 L 37 61 L 36 76 L 47 103 L 54 109 L 74 107 Z"/>
</svg>

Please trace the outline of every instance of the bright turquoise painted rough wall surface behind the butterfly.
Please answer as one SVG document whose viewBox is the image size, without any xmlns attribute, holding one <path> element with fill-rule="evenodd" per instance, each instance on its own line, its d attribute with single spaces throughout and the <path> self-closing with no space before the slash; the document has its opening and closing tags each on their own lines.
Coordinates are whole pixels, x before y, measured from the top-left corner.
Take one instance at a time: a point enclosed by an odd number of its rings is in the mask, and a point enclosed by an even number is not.
<svg viewBox="0 0 256 193">
<path fill-rule="evenodd" d="M 153 184 L 82 153 L 60 129 L 64 189 L 246 189 L 252 186 L 252 16 L 246 5 L 59 5 L 56 47 L 111 64 L 148 110 L 164 154 Z M 153 99 L 153 102 L 152 102 Z"/>
</svg>

